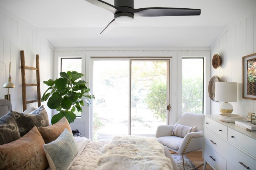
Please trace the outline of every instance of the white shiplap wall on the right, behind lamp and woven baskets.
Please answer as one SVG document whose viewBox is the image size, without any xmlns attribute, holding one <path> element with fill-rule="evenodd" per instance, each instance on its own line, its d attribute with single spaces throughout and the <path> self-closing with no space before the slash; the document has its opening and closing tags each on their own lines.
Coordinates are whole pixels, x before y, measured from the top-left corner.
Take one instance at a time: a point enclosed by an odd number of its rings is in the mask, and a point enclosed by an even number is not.
<svg viewBox="0 0 256 170">
<path fill-rule="evenodd" d="M 217 53 L 222 59 L 219 68 L 211 68 L 211 76 L 221 81 L 237 82 L 237 102 L 231 103 L 232 113 L 246 116 L 256 113 L 256 100 L 242 99 L 242 57 L 256 53 L 256 14 L 230 26 L 211 47 L 211 57 Z M 211 114 L 219 114 L 219 102 L 211 102 Z"/>
</svg>

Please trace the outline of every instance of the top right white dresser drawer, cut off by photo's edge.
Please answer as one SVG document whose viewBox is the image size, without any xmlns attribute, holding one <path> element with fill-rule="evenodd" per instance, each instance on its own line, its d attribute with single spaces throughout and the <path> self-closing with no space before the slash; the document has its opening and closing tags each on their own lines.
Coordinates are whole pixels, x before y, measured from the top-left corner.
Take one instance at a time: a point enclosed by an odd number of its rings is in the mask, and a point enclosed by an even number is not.
<svg viewBox="0 0 256 170">
<path fill-rule="evenodd" d="M 228 141 L 256 158 L 256 140 L 228 128 Z"/>
</svg>

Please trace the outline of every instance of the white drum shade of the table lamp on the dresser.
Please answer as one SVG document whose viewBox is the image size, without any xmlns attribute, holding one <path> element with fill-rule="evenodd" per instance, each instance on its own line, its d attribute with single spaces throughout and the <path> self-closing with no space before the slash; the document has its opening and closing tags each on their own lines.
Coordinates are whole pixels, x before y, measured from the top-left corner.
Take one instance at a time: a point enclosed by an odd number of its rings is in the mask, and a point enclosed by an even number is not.
<svg viewBox="0 0 256 170">
<path fill-rule="evenodd" d="M 237 83 L 236 82 L 216 82 L 215 100 L 221 102 L 237 101 Z"/>
</svg>

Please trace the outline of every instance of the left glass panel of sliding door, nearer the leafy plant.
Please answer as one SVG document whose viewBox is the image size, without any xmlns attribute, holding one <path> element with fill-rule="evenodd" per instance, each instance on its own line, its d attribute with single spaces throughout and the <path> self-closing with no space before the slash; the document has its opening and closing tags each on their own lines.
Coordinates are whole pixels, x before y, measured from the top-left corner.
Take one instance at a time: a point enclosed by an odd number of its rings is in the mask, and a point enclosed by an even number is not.
<svg viewBox="0 0 256 170">
<path fill-rule="evenodd" d="M 93 140 L 128 135 L 129 60 L 94 60 L 93 94 Z"/>
</svg>

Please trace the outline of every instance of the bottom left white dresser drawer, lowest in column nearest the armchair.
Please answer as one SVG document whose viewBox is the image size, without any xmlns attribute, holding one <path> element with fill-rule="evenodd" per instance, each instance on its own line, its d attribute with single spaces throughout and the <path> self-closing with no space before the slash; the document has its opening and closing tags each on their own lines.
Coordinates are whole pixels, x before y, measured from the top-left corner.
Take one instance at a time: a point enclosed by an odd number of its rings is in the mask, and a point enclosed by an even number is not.
<svg viewBox="0 0 256 170">
<path fill-rule="evenodd" d="M 227 161 L 216 153 L 211 147 L 204 143 L 204 158 L 217 170 L 226 170 Z"/>
</svg>

